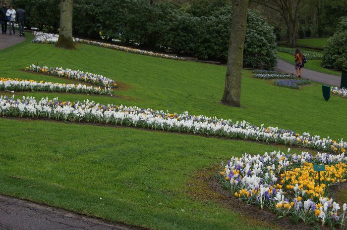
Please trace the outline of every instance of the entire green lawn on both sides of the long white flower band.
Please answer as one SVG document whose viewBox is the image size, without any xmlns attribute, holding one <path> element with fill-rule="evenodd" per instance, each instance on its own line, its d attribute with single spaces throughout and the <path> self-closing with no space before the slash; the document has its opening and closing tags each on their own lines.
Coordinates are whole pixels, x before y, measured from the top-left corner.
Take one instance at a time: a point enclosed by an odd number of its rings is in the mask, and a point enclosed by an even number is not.
<svg viewBox="0 0 347 230">
<path fill-rule="evenodd" d="M 70 51 L 31 44 L 30 38 L 0 51 L 6 57 L 0 62 L 1 76 L 69 82 L 21 69 L 37 62 L 80 69 L 118 80 L 121 84 L 116 94 L 122 98 L 42 92 L 15 93 L 17 96 L 89 98 L 346 138 L 346 99 L 332 96 L 326 102 L 318 84 L 291 90 L 254 79 L 244 71 L 242 106 L 233 108 L 219 103 L 226 72 L 223 66 L 87 45 Z M 217 165 L 231 156 L 287 147 L 134 128 L 6 118 L 0 118 L 0 131 L 2 194 L 156 230 L 273 228 L 269 226 L 271 220 L 249 220 L 219 202 L 192 196 L 189 183 L 202 169 L 214 167 L 217 171 Z"/>
</svg>

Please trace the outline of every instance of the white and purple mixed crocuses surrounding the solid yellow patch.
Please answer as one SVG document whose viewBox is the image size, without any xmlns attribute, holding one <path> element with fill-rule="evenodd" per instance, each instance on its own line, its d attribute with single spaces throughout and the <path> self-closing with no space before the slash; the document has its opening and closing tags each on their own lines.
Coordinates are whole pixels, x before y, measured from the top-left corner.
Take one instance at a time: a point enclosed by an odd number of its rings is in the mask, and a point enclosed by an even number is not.
<svg viewBox="0 0 347 230">
<path fill-rule="evenodd" d="M 346 203 L 341 210 L 340 204 L 331 198 L 320 197 L 314 200 L 306 190 L 300 189 L 299 184 L 288 188 L 277 182 L 277 178 L 284 171 L 299 168 L 306 163 L 346 164 L 347 156 L 345 153 L 290 154 L 289 151 L 288 153 L 274 151 L 263 155 L 245 153 L 242 157 L 232 157 L 227 164 L 222 162 L 221 182 L 240 200 L 247 204 L 255 204 L 261 209 L 268 207 L 279 216 L 290 214 L 293 219 L 297 217 L 306 224 L 309 223 L 308 220 L 317 218 L 323 225 L 343 226 L 346 222 Z M 347 178 L 346 171 L 344 178 L 345 180 Z"/>
</svg>

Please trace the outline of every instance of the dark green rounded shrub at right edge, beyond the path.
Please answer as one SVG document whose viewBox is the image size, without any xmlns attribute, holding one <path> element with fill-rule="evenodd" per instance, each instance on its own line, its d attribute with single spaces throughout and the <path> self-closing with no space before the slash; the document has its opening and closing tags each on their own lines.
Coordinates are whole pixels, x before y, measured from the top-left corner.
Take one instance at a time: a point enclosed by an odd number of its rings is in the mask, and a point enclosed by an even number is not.
<svg viewBox="0 0 347 230">
<path fill-rule="evenodd" d="M 337 31 L 323 52 L 323 66 L 347 70 L 347 17 L 342 17 Z"/>
</svg>

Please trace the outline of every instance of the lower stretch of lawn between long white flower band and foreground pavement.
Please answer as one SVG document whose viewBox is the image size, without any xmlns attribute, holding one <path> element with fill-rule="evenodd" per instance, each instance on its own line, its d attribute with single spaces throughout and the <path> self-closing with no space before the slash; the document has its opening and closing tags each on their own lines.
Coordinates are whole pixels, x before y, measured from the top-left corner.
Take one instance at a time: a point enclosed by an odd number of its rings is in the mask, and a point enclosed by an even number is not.
<svg viewBox="0 0 347 230">
<path fill-rule="evenodd" d="M 0 127 L 2 194 L 158 230 L 271 229 L 193 197 L 188 184 L 231 155 L 284 147 L 47 121 L 0 118 Z"/>
</svg>

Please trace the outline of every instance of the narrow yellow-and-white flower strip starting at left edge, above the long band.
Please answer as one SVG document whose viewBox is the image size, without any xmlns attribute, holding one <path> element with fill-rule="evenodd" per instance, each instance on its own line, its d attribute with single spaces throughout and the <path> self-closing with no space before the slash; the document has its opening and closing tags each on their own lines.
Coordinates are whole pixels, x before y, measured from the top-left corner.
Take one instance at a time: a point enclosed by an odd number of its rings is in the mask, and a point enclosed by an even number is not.
<svg viewBox="0 0 347 230">
<path fill-rule="evenodd" d="M 0 91 L 45 91 L 45 92 L 72 92 L 113 95 L 111 88 L 86 86 L 82 84 L 60 84 L 53 82 L 36 82 L 34 80 L 21 80 L 0 78 Z"/>
</svg>

